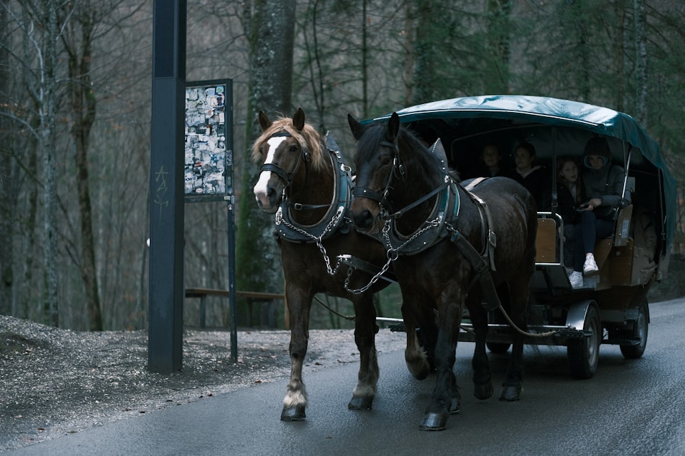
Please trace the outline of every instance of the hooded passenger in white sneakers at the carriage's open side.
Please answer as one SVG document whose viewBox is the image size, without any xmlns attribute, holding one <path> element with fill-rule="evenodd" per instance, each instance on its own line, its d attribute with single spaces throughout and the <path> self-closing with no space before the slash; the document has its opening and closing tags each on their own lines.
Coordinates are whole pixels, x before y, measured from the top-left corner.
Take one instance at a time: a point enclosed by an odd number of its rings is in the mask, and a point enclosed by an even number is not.
<svg viewBox="0 0 685 456">
<path fill-rule="evenodd" d="M 588 200 L 581 204 L 575 225 L 571 286 L 583 286 L 583 276 L 599 271 L 595 242 L 614 231 L 614 214 L 623 203 L 623 167 L 612 165 L 609 144 L 603 137 L 590 138 L 583 152 L 583 184 Z M 626 197 L 630 200 L 630 195 Z"/>
</svg>

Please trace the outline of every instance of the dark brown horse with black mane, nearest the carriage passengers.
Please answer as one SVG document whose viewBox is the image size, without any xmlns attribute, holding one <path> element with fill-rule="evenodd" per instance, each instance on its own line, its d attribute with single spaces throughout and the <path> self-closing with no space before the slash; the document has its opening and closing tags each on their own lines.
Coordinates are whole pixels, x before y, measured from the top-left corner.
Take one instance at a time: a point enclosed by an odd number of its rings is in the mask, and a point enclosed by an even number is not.
<svg viewBox="0 0 685 456">
<path fill-rule="evenodd" d="M 414 331 L 414 322 L 421 328 L 437 371 L 421 429 L 442 430 L 449 414 L 460 407 L 452 369 L 464 306 L 475 329 L 473 383 L 478 399 L 493 394 L 486 308 L 500 306 L 495 287 L 506 284 L 499 288 L 508 289 L 510 317 L 525 328 L 535 265 L 535 202 L 509 178 L 489 178 L 473 193 L 467 191 L 447 170 L 444 152 L 427 148 L 400 125 L 397 113 L 388 122 L 370 126 L 352 116 L 348 120 L 357 140 L 353 217 L 360 229 L 377 231 L 382 226 L 388 256 L 396 258 L 393 267 L 407 333 Z M 501 400 L 519 399 L 522 357 L 523 336 L 515 332 Z M 408 345 L 406 361 L 418 378 L 428 373 L 425 358 L 423 351 Z"/>
</svg>

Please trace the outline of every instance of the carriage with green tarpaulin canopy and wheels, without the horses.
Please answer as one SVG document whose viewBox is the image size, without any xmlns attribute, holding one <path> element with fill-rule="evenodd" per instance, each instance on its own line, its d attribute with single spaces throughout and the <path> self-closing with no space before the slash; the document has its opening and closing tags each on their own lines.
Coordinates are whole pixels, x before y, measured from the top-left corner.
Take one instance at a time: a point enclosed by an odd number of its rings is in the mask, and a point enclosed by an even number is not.
<svg viewBox="0 0 685 456">
<path fill-rule="evenodd" d="M 535 273 L 531 284 L 526 343 L 567 347 L 571 375 L 592 377 L 599 347 L 614 344 L 625 358 L 645 351 L 649 325 L 647 291 L 667 278 L 675 233 L 675 180 L 656 141 L 625 113 L 571 100 L 538 96 L 475 96 L 440 100 L 397 111 L 402 124 L 426 144 L 440 139 L 451 167 L 462 174 L 477 165 L 480 149 L 495 141 L 505 159 L 518 141 L 534 144 L 536 158 L 556 170 L 556 159 L 578 157 L 593 135 L 606 137 L 612 160 L 627 170 L 625 191 L 632 204 L 619 208 L 614 234 L 597 243 L 599 274 L 573 289 L 564 268 L 562 219 L 554 211 L 538 212 Z M 364 123 L 385 122 L 390 115 Z M 512 162 L 511 162 L 512 163 Z M 513 164 L 511 164 L 513 166 Z M 556 188 L 556 172 L 551 172 Z M 556 199 L 556 191 L 552 192 Z M 648 243 L 638 217 L 653 220 Z M 357 265 L 358 266 L 358 265 Z M 358 266 L 359 267 L 359 266 Z M 511 327 L 501 312 L 490 312 L 488 347 L 504 352 L 510 346 Z M 469 321 L 459 340 L 474 341 Z"/>
</svg>

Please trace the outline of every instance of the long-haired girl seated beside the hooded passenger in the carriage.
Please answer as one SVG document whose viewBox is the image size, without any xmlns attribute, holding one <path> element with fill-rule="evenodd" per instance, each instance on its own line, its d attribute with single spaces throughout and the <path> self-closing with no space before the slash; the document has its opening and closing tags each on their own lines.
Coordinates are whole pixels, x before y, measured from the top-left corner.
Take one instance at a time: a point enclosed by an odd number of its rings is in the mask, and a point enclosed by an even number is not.
<svg viewBox="0 0 685 456">
<path fill-rule="evenodd" d="M 573 271 L 573 240 L 575 223 L 580 204 L 585 201 L 585 189 L 578 172 L 578 165 L 572 157 L 562 157 L 557 161 L 557 198 L 558 211 L 564 222 L 564 266 Z"/>
</svg>

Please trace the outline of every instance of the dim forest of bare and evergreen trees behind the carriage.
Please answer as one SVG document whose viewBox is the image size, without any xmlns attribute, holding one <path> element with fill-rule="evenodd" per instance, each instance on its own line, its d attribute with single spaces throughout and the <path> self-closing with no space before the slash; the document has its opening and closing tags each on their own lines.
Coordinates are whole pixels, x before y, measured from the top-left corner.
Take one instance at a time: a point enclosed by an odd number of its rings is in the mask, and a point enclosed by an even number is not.
<svg viewBox="0 0 685 456">
<path fill-rule="evenodd" d="M 0 314 L 147 327 L 152 7 L 0 0 Z M 611 107 L 659 142 L 682 232 L 683 24 L 685 4 L 669 0 L 188 2 L 186 81 L 234 85 L 236 288 L 282 292 L 273 216 L 251 192 L 260 109 L 302 107 L 351 163 L 347 113 L 481 94 Z M 225 289 L 225 204 L 186 203 L 184 219 L 185 286 Z M 225 301 L 209 301 L 209 325 L 227 325 Z M 376 297 L 386 316 L 399 317 L 399 303 L 397 286 Z M 265 308 L 282 327 L 282 305 Z M 185 318 L 197 321 L 197 303 L 186 299 Z M 312 327 L 351 323 L 314 306 Z"/>
</svg>

